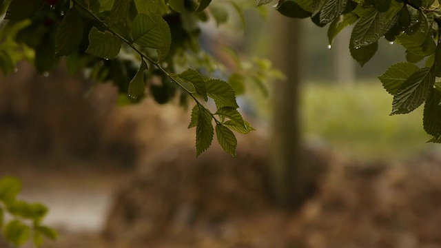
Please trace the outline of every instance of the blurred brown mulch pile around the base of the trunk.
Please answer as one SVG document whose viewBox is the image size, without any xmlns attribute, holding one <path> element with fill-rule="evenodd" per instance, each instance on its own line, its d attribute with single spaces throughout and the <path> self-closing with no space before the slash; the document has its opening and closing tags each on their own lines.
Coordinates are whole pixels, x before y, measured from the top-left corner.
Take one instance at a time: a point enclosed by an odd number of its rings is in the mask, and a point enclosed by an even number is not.
<svg viewBox="0 0 441 248">
<path fill-rule="evenodd" d="M 282 211 L 265 142 L 251 143 L 236 160 L 216 147 L 156 155 L 117 195 L 104 247 L 441 247 L 441 156 L 365 164 L 307 149 L 317 191 Z"/>
</svg>

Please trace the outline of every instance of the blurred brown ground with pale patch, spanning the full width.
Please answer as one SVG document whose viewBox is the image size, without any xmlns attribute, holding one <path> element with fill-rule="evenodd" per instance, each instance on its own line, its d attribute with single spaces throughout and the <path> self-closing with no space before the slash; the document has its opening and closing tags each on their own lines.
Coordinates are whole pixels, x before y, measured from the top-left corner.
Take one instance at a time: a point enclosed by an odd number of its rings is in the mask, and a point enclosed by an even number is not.
<svg viewBox="0 0 441 248">
<path fill-rule="evenodd" d="M 264 127 L 240 136 L 238 158 L 214 145 L 195 159 L 178 107 L 113 107 L 110 86 L 84 97 L 88 82 L 15 76 L 0 84 L 0 176 L 19 176 L 20 197 L 50 207 L 46 222 L 61 236 L 45 247 L 441 247 L 441 155 L 431 146 L 382 162 L 307 142 L 315 190 L 282 211 Z"/>
</svg>

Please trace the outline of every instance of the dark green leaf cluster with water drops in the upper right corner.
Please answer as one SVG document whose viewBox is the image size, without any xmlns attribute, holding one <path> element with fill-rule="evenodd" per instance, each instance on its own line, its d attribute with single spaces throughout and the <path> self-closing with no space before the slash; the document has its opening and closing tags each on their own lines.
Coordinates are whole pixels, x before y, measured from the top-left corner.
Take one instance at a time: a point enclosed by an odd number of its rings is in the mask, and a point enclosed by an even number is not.
<svg viewBox="0 0 441 248">
<path fill-rule="evenodd" d="M 267 1 L 258 1 L 267 3 Z M 406 49 L 406 62 L 392 65 L 379 76 L 393 95 L 393 114 L 407 114 L 424 104 L 423 126 L 431 141 L 441 143 L 441 7 L 438 0 L 280 0 L 276 9 L 293 18 L 310 18 L 328 25 L 329 45 L 353 26 L 349 51 L 365 65 L 387 39 Z M 425 61 L 423 68 L 416 63 Z"/>
</svg>

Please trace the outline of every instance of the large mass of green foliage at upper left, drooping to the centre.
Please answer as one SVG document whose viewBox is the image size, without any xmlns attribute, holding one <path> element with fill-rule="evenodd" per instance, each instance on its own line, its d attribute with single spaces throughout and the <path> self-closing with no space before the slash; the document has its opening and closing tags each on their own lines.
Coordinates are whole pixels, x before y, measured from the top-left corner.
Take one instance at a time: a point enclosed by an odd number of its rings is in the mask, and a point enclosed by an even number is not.
<svg viewBox="0 0 441 248">
<path fill-rule="evenodd" d="M 10 21 L 0 26 L 0 38 L 8 41 L 0 43 L 0 69 L 12 73 L 18 61 L 27 59 L 46 73 L 65 56 L 68 72 L 87 70 L 94 81 L 113 81 L 123 95 L 119 99 L 125 102 L 136 103 L 145 96 L 158 103 L 177 97 L 181 103 L 192 99 L 190 127 L 196 127 L 196 156 L 211 145 L 214 125 L 220 146 L 235 156 L 237 141 L 232 131 L 246 134 L 253 130 L 236 110 L 236 94 L 243 93 L 249 81 L 261 87 L 271 75 L 271 66 L 265 67 L 267 72 L 249 73 L 237 59 L 238 70 L 227 70 L 201 50 L 198 36 L 199 23 L 209 19 L 218 25 L 226 23 L 229 10 L 236 11 L 245 27 L 242 2 L 1 1 L 0 10 Z M 17 56 L 11 48 L 23 54 Z M 214 77 L 219 71 L 229 80 Z M 207 106 L 209 99 L 216 104 L 213 112 Z M 40 240 L 38 235 L 34 238 Z"/>
</svg>

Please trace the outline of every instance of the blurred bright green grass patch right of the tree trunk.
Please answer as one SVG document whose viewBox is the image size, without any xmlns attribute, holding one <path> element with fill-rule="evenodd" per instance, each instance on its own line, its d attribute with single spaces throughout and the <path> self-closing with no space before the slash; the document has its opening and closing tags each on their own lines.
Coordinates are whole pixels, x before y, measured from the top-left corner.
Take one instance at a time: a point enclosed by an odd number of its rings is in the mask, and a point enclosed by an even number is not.
<svg viewBox="0 0 441 248">
<path fill-rule="evenodd" d="M 426 143 L 422 109 L 389 116 L 393 97 L 379 81 L 353 85 L 305 83 L 302 128 L 307 141 L 368 161 L 406 159 L 439 145 Z"/>
</svg>

